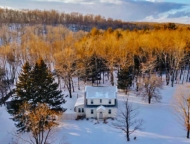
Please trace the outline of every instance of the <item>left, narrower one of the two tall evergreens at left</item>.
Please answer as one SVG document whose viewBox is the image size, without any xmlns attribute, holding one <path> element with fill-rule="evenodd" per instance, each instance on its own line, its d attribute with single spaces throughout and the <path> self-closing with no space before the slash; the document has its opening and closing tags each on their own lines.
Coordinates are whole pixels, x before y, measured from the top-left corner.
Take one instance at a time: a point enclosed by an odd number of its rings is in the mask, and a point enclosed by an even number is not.
<svg viewBox="0 0 190 144">
<path fill-rule="evenodd" d="M 26 101 L 28 102 L 33 98 L 32 85 L 31 85 L 31 66 L 26 62 L 22 67 L 22 72 L 19 75 L 19 81 L 16 84 L 15 93 L 16 96 L 13 98 L 9 105 L 7 106 L 8 112 L 13 115 L 13 120 L 16 122 L 16 127 L 19 132 L 29 131 L 26 125 L 20 121 L 23 115 L 17 115 L 20 106 Z"/>
</svg>

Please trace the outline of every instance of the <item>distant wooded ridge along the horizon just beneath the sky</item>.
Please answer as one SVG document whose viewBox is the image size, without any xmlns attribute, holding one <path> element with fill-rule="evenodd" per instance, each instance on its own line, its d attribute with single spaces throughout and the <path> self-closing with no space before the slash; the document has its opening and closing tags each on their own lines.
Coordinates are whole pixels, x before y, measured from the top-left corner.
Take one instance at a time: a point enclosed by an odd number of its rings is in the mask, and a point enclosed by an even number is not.
<svg viewBox="0 0 190 144">
<path fill-rule="evenodd" d="M 93 27 L 98 29 L 176 29 L 180 27 L 189 28 L 189 25 L 174 24 L 174 23 L 141 23 L 141 22 L 125 22 L 105 18 L 101 15 L 87 14 L 83 15 L 78 12 L 65 13 L 56 10 L 12 10 L 0 8 L 0 24 L 20 24 L 20 25 L 64 25 L 73 31 L 84 30 L 90 31 Z"/>
</svg>

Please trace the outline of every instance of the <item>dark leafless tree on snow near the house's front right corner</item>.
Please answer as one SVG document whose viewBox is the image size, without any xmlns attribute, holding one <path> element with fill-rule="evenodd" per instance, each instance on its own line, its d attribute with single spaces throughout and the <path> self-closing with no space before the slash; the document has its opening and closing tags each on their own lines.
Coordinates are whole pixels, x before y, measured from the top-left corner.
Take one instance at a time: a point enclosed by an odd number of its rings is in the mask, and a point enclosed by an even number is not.
<svg viewBox="0 0 190 144">
<path fill-rule="evenodd" d="M 130 134 L 136 130 L 140 130 L 144 121 L 136 119 L 138 116 L 138 108 L 133 108 L 128 99 L 123 102 L 122 109 L 118 109 L 118 119 L 113 126 L 122 130 L 126 134 L 127 141 L 130 141 Z"/>
</svg>

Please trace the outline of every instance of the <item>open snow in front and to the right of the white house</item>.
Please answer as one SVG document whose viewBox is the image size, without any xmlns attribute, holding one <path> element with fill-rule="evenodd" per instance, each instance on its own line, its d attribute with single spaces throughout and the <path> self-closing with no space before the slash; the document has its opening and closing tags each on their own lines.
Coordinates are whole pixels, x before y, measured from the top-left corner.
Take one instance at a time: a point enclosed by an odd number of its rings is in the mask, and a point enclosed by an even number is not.
<svg viewBox="0 0 190 144">
<path fill-rule="evenodd" d="M 163 99 L 160 103 L 153 102 L 147 104 L 135 94 L 118 93 L 118 105 L 122 107 L 122 102 L 129 98 L 134 108 L 139 108 L 139 118 L 145 121 L 142 130 L 138 130 L 131 135 L 130 143 L 134 144 L 188 144 L 186 131 L 178 123 L 176 116 L 171 109 L 171 99 L 175 87 L 164 86 L 161 91 Z M 89 120 L 67 120 L 62 121 L 58 129 L 58 137 L 65 136 L 66 142 L 71 144 L 126 144 L 125 134 L 115 129 L 112 125 L 115 120 L 108 119 L 107 124 L 103 121 L 97 123 L 94 119 Z M 134 137 L 137 137 L 134 140 Z"/>
</svg>

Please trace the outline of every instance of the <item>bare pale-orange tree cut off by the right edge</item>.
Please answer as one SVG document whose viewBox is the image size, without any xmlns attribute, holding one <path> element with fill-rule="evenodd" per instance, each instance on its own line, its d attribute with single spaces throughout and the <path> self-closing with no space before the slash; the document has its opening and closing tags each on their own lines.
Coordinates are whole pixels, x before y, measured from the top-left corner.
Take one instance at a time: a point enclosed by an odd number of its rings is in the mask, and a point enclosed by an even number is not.
<svg viewBox="0 0 190 144">
<path fill-rule="evenodd" d="M 172 107 L 179 122 L 190 136 L 190 84 L 178 85 L 172 100 Z"/>
</svg>

